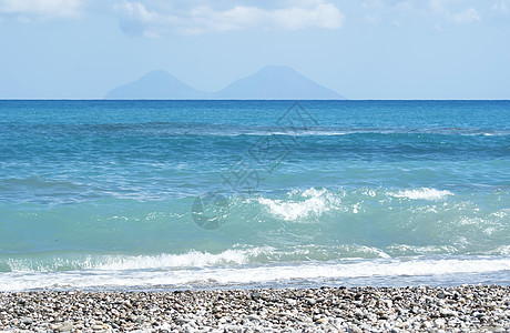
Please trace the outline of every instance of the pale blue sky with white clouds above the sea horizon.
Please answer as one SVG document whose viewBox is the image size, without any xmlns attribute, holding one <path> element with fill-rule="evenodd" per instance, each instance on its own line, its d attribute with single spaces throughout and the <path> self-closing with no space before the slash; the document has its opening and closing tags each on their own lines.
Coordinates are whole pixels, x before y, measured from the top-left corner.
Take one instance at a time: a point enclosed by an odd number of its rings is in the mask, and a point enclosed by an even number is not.
<svg viewBox="0 0 510 333">
<path fill-rule="evenodd" d="M 0 0 L 0 99 L 288 65 L 348 99 L 510 99 L 510 0 Z"/>
</svg>

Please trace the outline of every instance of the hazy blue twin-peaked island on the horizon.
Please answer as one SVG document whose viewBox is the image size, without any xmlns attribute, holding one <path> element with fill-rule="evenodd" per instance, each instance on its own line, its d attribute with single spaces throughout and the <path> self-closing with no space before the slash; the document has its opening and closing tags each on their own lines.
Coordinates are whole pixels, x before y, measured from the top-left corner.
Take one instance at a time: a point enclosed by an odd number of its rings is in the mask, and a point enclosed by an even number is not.
<svg viewBox="0 0 510 333">
<path fill-rule="evenodd" d="M 196 90 L 165 71 L 152 71 L 110 90 L 108 100 L 344 100 L 285 65 L 267 65 L 217 92 Z"/>
</svg>

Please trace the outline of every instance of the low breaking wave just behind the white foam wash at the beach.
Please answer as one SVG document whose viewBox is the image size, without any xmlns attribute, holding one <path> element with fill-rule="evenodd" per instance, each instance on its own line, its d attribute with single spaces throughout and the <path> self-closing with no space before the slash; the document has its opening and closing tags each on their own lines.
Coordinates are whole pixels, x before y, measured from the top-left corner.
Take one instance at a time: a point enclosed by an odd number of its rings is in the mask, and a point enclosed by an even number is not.
<svg viewBox="0 0 510 333">
<path fill-rule="evenodd" d="M 292 245 L 292 246 L 246 246 L 236 244 L 221 252 L 190 250 L 185 253 L 161 254 L 90 254 L 90 253 L 34 253 L 24 255 L 1 255 L 0 275 L 7 273 L 70 273 L 106 271 L 154 271 L 176 272 L 206 269 L 242 269 L 272 265 L 328 265 L 350 262 L 380 263 L 386 261 L 412 262 L 416 260 L 447 260 L 463 258 L 466 262 L 475 259 L 497 260 L 508 258 L 509 245 L 475 255 L 459 254 L 451 245 L 391 244 L 385 248 L 363 244 L 339 245 Z M 508 258 L 510 260 L 510 258 Z M 169 273 L 171 274 L 171 273 Z M 359 273 L 363 276 L 361 273 Z M 344 276 L 344 275 L 341 275 Z"/>
</svg>

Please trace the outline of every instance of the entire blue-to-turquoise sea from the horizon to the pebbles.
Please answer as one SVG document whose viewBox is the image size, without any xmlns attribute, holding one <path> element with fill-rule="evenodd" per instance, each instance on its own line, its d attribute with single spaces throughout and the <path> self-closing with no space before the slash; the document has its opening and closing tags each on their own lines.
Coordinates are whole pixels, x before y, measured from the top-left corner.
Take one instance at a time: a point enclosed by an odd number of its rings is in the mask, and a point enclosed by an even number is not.
<svg viewBox="0 0 510 333">
<path fill-rule="evenodd" d="M 0 291 L 510 284 L 510 101 L 0 101 Z"/>
</svg>

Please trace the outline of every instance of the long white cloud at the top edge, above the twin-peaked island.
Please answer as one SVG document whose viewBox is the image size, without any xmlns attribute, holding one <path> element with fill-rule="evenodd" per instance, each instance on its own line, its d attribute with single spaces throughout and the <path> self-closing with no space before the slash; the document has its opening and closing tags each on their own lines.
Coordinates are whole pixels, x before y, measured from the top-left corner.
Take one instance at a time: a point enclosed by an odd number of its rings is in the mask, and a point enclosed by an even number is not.
<svg viewBox="0 0 510 333">
<path fill-rule="evenodd" d="M 325 0 L 275 1 L 268 9 L 256 6 L 259 2 L 218 2 L 222 8 L 217 2 L 213 6 L 212 1 L 200 0 L 180 6 L 159 1 L 124 1 L 118 3 L 115 9 L 125 32 L 146 37 L 246 29 L 339 29 L 345 20 L 340 10 Z"/>
</svg>

